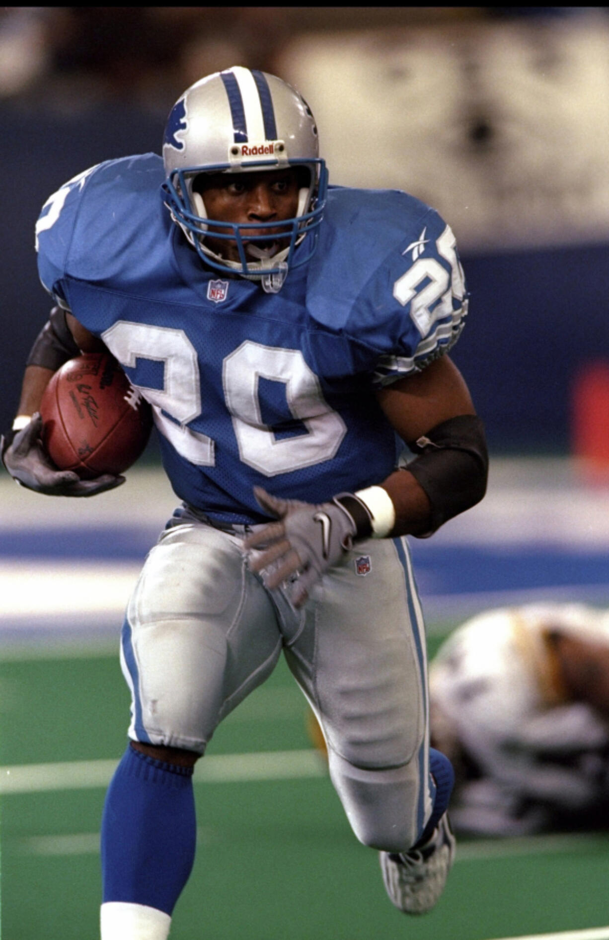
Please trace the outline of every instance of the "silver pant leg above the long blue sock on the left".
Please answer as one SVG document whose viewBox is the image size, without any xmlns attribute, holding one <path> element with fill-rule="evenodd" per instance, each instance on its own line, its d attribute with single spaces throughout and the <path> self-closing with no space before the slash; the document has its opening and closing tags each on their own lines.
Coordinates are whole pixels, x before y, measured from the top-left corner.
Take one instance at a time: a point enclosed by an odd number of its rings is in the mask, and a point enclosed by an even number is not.
<svg viewBox="0 0 609 940">
<path fill-rule="evenodd" d="M 175 526 L 148 555 L 128 606 L 130 736 L 203 753 L 222 717 L 273 670 L 280 646 L 241 540 L 209 525 Z"/>
</svg>

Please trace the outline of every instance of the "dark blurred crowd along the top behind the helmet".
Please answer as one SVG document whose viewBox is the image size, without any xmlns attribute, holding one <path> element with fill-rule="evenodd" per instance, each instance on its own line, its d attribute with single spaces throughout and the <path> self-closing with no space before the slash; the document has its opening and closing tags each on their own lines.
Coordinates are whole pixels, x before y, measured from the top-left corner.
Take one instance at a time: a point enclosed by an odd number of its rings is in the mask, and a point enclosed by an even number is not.
<svg viewBox="0 0 609 940">
<path fill-rule="evenodd" d="M 0 100 L 47 106 L 126 100 L 170 106 L 202 75 L 240 64 L 275 71 L 304 32 L 446 24 L 580 8 L 4 7 Z"/>
</svg>

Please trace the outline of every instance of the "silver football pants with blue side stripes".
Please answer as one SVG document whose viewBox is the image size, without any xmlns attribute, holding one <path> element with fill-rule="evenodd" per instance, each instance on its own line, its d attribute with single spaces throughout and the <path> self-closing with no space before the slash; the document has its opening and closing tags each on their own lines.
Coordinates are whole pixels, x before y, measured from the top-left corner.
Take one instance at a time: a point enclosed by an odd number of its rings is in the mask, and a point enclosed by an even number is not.
<svg viewBox="0 0 609 940">
<path fill-rule="evenodd" d="M 356 837 L 404 851 L 433 797 L 425 636 L 406 540 L 358 543 L 301 610 L 289 587 L 269 591 L 249 571 L 236 530 L 188 513 L 167 528 L 123 628 L 130 737 L 203 754 L 283 649 L 320 721 Z"/>
</svg>

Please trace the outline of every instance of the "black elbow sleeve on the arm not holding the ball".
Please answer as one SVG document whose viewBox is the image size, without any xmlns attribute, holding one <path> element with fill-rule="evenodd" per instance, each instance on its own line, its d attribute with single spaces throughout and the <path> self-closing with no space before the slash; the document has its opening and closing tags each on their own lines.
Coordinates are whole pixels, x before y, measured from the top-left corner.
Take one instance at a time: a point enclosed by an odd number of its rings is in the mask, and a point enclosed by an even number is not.
<svg viewBox="0 0 609 940">
<path fill-rule="evenodd" d="M 436 425 L 414 444 L 418 456 L 405 467 L 431 504 L 432 535 L 448 519 L 479 503 L 487 488 L 489 453 L 484 425 L 477 415 L 459 415 Z"/>
</svg>

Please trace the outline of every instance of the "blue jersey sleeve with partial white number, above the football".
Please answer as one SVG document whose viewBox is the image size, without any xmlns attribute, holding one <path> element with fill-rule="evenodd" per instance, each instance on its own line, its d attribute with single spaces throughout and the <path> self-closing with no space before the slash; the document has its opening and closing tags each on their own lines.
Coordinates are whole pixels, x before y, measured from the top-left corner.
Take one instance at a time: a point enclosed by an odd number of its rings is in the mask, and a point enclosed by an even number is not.
<svg viewBox="0 0 609 940">
<path fill-rule="evenodd" d="M 70 309 L 65 274 L 83 190 L 96 166 L 64 183 L 49 196 L 36 223 L 36 250 L 42 287 L 65 309 Z"/>
</svg>

